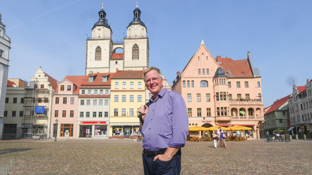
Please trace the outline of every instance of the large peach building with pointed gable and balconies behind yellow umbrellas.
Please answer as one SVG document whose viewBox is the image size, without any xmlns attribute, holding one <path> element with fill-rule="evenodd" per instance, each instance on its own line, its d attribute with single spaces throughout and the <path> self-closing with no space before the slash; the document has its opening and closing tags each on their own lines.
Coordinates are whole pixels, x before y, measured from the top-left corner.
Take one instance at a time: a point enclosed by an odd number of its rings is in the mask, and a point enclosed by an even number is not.
<svg viewBox="0 0 312 175">
<path fill-rule="evenodd" d="M 190 127 L 243 125 L 252 130 L 236 135 L 260 138 L 259 125 L 264 122 L 261 75 L 250 52 L 242 60 L 214 58 L 201 41 L 184 70 L 177 72 L 172 90 L 185 100 Z"/>
</svg>

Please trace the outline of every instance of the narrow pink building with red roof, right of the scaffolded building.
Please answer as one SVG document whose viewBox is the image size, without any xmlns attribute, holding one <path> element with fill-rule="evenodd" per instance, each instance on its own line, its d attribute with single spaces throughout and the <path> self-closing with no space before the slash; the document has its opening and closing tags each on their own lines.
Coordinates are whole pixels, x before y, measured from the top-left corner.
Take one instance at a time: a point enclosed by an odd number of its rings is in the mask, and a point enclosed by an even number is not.
<svg viewBox="0 0 312 175">
<path fill-rule="evenodd" d="M 51 131 L 53 137 L 77 138 L 79 87 L 86 76 L 66 76 L 53 94 Z M 58 119 L 58 124 L 55 121 Z"/>
</svg>

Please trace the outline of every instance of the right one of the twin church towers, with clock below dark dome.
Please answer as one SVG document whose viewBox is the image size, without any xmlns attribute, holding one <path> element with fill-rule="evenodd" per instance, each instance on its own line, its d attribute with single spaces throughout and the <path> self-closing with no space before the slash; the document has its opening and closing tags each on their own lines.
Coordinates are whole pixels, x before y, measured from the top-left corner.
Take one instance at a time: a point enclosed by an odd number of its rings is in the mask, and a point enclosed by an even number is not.
<svg viewBox="0 0 312 175">
<path fill-rule="evenodd" d="M 149 67 L 149 45 L 147 29 L 141 21 L 141 11 L 133 11 L 134 18 L 127 27 L 127 36 L 123 39 L 123 70 L 142 70 Z"/>
</svg>

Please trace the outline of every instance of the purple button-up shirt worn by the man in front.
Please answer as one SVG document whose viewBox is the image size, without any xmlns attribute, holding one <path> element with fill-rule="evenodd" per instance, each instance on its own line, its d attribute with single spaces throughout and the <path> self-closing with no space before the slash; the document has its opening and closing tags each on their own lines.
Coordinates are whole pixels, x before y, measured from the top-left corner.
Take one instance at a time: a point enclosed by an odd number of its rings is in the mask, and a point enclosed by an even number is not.
<svg viewBox="0 0 312 175">
<path fill-rule="evenodd" d="M 186 142 L 189 118 L 182 96 L 162 89 L 150 99 L 150 106 L 142 127 L 142 147 L 158 151 L 170 147 L 183 147 Z"/>
</svg>

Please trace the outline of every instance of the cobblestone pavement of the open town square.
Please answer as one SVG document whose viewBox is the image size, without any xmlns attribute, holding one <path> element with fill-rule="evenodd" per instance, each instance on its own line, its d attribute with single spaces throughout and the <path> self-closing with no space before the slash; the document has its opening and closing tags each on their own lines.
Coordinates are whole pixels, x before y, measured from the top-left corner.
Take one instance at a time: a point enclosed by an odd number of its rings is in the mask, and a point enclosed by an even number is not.
<svg viewBox="0 0 312 175">
<path fill-rule="evenodd" d="M 189 142 L 182 175 L 312 175 L 312 141 Z M 1 140 L 0 175 L 142 175 L 134 140 Z"/>
</svg>

